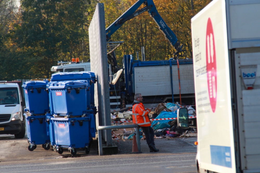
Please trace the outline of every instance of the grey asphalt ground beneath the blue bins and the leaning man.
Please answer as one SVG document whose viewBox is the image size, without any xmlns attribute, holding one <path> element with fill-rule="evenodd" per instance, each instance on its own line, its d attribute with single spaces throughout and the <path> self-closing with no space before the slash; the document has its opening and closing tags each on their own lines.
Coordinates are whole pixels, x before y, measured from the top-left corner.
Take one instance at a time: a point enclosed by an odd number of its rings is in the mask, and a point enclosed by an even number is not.
<svg viewBox="0 0 260 173">
<path fill-rule="evenodd" d="M 90 153 L 78 149 L 76 156 L 64 150 L 62 155 L 37 146 L 28 151 L 27 136 L 15 139 L 13 135 L 0 135 L 0 172 L 197 172 L 194 141 L 197 137 L 155 139 L 160 151 L 150 153 L 146 141 L 141 140 L 141 154 L 128 154 L 131 140 L 114 140 L 119 154 L 98 156 L 97 140 Z"/>
</svg>

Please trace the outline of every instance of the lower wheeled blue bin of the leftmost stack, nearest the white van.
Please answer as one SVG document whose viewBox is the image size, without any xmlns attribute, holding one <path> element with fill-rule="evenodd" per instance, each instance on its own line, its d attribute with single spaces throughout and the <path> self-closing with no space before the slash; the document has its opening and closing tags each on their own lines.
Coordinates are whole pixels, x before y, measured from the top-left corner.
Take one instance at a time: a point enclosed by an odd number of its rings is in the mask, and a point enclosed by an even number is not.
<svg viewBox="0 0 260 173">
<path fill-rule="evenodd" d="M 28 150 L 33 151 L 36 145 L 42 145 L 45 150 L 50 149 L 50 136 L 47 135 L 46 115 L 27 116 L 26 129 L 28 137 Z"/>
</svg>

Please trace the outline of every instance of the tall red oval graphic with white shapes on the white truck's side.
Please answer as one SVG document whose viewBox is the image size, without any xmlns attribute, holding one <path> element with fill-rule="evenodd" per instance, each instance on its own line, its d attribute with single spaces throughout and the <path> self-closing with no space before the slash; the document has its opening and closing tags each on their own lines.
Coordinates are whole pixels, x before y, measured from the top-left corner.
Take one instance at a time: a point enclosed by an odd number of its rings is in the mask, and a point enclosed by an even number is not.
<svg viewBox="0 0 260 173">
<path fill-rule="evenodd" d="M 212 111 L 215 112 L 217 105 L 217 62 L 214 32 L 210 18 L 206 32 L 206 63 L 210 105 Z"/>
</svg>

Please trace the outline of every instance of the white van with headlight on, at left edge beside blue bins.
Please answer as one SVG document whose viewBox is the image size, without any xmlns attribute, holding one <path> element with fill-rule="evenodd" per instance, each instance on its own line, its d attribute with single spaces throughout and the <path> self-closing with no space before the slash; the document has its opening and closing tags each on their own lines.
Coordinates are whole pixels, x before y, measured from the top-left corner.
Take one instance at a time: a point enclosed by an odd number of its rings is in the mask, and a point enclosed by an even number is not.
<svg viewBox="0 0 260 173">
<path fill-rule="evenodd" d="M 17 83 L 0 81 L 0 134 L 12 134 L 16 139 L 25 135 L 22 95 Z"/>
</svg>

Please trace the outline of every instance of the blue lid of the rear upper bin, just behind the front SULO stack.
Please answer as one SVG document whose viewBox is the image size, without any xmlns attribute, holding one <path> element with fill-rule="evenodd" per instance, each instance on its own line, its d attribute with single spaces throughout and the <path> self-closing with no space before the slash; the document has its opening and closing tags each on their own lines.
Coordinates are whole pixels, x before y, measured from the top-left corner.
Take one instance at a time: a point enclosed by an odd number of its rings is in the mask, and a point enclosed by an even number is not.
<svg viewBox="0 0 260 173">
<path fill-rule="evenodd" d="M 62 72 L 51 75 L 51 81 L 79 80 L 91 78 L 88 72 Z"/>
</svg>

